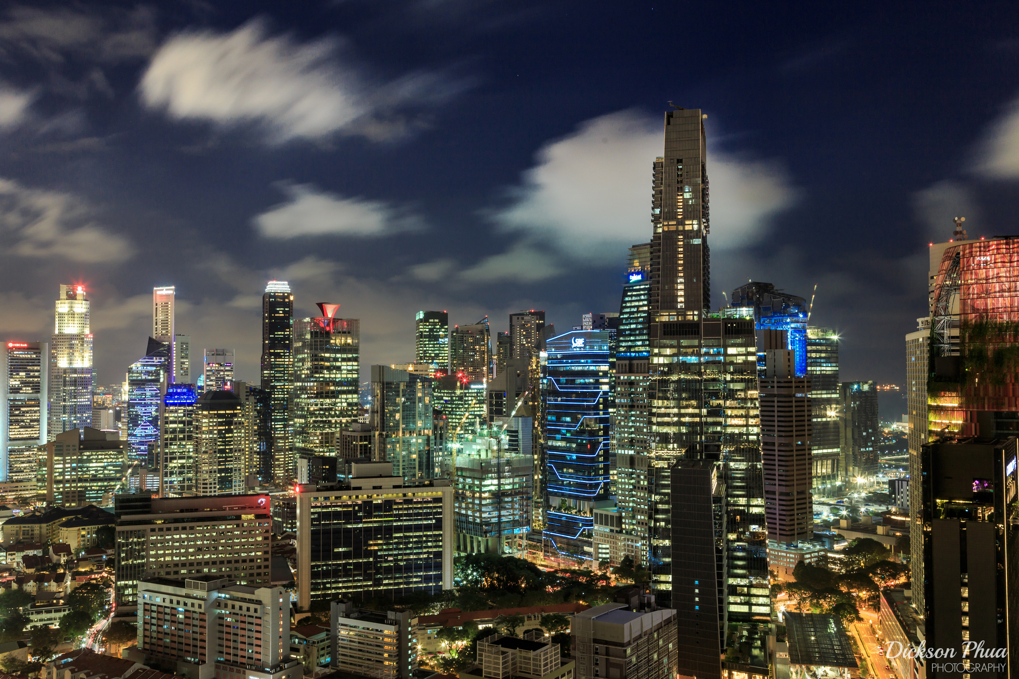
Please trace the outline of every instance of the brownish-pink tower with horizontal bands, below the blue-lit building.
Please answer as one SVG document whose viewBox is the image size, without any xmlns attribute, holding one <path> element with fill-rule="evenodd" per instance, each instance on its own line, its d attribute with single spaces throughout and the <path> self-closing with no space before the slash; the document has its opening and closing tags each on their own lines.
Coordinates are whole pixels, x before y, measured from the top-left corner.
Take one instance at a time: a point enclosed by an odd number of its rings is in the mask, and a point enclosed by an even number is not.
<svg viewBox="0 0 1019 679">
<path fill-rule="evenodd" d="M 765 369 L 760 383 L 761 461 L 768 551 L 797 548 L 813 539 L 810 495 L 810 379 L 796 374 L 795 352 L 781 348 L 785 333 L 765 332 Z M 777 337 L 768 342 L 771 337 Z M 769 348 L 780 347 L 780 348 Z M 779 559 L 776 559 L 779 560 Z"/>
</svg>

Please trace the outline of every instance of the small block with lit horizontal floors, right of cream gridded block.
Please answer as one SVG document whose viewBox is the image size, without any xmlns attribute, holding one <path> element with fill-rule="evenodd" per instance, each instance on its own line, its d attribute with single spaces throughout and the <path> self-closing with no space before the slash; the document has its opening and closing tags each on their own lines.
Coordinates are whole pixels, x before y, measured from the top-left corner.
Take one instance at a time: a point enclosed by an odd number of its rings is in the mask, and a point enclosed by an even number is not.
<svg viewBox="0 0 1019 679">
<path fill-rule="evenodd" d="M 410 611 L 369 611 L 340 600 L 330 605 L 331 666 L 374 679 L 411 679 L 418 669 Z"/>
</svg>

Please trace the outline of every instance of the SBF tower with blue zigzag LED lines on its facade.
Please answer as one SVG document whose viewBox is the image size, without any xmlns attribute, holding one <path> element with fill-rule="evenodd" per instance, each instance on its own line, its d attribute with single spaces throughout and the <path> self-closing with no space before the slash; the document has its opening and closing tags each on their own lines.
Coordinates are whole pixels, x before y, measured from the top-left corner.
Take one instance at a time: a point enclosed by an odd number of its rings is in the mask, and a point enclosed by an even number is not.
<svg viewBox="0 0 1019 679">
<path fill-rule="evenodd" d="M 610 332 L 574 330 L 547 340 L 545 350 L 544 536 L 559 553 L 590 559 L 593 510 L 609 491 Z"/>
</svg>

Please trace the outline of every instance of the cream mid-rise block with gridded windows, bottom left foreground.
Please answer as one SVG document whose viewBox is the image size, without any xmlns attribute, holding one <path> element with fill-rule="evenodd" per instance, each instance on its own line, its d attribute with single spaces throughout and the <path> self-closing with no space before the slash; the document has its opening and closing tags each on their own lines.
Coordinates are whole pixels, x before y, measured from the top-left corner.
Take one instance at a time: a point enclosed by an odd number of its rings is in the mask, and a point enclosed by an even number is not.
<svg viewBox="0 0 1019 679">
<path fill-rule="evenodd" d="M 138 584 L 138 648 L 189 679 L 301 679 L 290 659 L 289 597 L 217 575 Z"/>
</svg>

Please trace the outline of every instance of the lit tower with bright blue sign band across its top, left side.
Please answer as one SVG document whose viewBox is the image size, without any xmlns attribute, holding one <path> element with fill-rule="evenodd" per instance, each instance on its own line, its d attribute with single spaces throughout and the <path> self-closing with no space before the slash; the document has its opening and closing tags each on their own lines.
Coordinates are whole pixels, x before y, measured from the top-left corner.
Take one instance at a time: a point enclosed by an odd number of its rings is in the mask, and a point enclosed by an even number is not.
<svg viewBox="0 0 1019 679">
<path fill-rule="evenodd" d="M 159 409 L 159 494 L 195 492 L 195 385 L 166 386 Z"/>
</svg>

